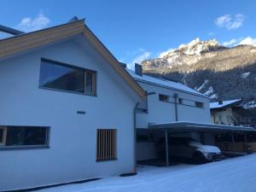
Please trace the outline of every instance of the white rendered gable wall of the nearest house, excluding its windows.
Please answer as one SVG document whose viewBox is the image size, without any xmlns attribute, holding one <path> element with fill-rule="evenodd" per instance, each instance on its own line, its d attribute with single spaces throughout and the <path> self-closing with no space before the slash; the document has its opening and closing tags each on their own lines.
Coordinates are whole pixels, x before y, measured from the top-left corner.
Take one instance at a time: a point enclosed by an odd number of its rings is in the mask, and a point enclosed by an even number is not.
<svg viewBox="0 0 256 192">
<path fill-rule="evenodd" d="M 96 50 L 78 40 L 0 61 L 0 125 L 50 126 L 50 148 L 0 150 L 0 191 L 134 171 L 137 101 Z M 97 96 L 39 89 L 41 57 L 95 70 Z M 96 129 L 104 128 L 118 130 L 118 160 L 96 162 Z"/>
</svg>

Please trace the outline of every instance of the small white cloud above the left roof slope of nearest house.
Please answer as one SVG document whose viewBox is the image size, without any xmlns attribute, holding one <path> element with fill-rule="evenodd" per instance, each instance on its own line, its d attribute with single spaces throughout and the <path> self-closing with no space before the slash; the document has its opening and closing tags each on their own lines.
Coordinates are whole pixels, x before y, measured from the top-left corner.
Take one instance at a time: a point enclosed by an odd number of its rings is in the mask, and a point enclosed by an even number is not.
<svg viewBox="0 0 256 192">
<path fill-rule="evenodd" d="M 20 20 L 18 24 L 18 28 L 20 31 L 24 32 L 32 32 L 39 29 L 43 29 L 44 27 L 49 25 L 49 18 L 45 16 L 43 13 L 39 13 L 35 18 L 26 17 Z"/>
</svg>

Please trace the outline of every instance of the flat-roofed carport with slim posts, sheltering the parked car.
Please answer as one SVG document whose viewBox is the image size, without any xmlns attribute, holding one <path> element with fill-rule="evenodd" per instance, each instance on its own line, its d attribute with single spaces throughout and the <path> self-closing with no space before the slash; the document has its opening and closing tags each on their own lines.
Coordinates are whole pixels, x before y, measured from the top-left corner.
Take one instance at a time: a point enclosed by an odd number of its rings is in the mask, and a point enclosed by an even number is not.
<svg viewBox="0 0 256 192">
<path fill-rule="evenodd" d="M 168 134 L 175 133 L 230 133 L 232 136 L 232 148 L 235 151 L 235 138 L 234 133 L 239 132 L 244 134 L 244 143 L 247 144 L 247 133 L 256 132 L 253 127 L 242 127 L 242 126 L 232 126 L 232 125 L 217 125 L 217 124 L 203 124 L 195 122 L 170 122 L 170 123 L 160 123 L 160 124 L 149 124 L 148 131 L 164 131 L 165 133 L 165 143 L 166 143 L 166 166 L 169 166 L 169 142 Z"/>
</svg>

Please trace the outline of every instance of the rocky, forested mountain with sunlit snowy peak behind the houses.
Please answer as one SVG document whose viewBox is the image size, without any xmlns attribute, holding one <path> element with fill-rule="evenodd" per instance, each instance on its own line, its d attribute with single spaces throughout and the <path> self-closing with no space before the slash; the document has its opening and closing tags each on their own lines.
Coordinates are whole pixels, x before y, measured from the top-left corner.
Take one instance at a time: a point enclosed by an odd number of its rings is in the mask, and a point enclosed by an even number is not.
<svg viewBox="0 0 256 192">
<path fill-rule="evenodd" d="M 227 48 L 216 39 L 196 38 L 142 65 L 143 73 L 186 84 L 212 101 L 256 101 L 256 47 L 252 45 Z"/>
</svg>

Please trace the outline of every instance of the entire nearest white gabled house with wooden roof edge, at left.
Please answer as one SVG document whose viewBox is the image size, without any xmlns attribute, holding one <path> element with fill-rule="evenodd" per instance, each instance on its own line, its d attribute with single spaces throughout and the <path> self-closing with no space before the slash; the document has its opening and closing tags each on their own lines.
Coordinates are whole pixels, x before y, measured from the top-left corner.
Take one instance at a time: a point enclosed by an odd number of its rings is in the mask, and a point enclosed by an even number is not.
<svg viewBox="0 0 256 192">
<path fill-rule="evenodd" d="M 75 20 L 0 41 L 0 191 L 135 172 L 144 90 Z"/>
</svg>

